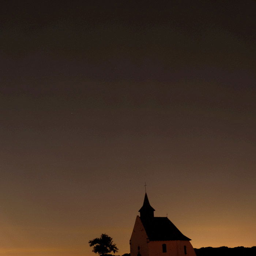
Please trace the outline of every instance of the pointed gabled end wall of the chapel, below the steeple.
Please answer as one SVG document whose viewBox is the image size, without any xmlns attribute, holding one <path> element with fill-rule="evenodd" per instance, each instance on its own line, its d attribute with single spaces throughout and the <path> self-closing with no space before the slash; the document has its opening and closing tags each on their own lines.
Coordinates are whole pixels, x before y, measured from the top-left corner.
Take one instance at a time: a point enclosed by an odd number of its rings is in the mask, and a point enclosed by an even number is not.
<svg viewBox="0 0 256 256">
<path fill-rule="evenodd" d="M 148 244 L 147 233 L 143 227 L 140 217 L 137 216 L 130 240 L 131 256 L 138 256 L 138 253 L 140 253 L 141 256 L 148 256 Z M 139 250 L 138 246 L 140 248 Z"/>
</svg>

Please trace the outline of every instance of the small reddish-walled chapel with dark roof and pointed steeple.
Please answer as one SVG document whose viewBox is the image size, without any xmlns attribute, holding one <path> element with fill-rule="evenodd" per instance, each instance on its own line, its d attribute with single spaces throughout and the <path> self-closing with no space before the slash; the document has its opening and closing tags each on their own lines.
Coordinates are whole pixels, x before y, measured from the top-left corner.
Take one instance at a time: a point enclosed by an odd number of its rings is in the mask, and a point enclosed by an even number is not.
<svg viewBox="0 0 256 256">
<path fill-rule="evenodd" d="M 196 256 L 190 238 L 167 217 L 154 217 L 154 208 L 145 193 L 130 240 L 131 256 Z"/>
</svg>

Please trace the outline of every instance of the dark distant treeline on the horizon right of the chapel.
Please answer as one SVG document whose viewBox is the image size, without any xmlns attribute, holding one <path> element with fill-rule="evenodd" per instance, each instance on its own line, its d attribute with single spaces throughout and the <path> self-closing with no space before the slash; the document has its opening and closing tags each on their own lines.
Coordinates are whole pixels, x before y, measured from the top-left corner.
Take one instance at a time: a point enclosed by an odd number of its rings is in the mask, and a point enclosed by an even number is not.
<svg viewBox="0 0 256 256">
<path fill-rule="evenodd" d="M 254 256 L 256 255 L 256 246 L 252 247 L 234 247 L 229 248 L 226 246 L 221 247 L 202 247 L 200 249 L 195 249 L 196 256 Z"/>
</svg>

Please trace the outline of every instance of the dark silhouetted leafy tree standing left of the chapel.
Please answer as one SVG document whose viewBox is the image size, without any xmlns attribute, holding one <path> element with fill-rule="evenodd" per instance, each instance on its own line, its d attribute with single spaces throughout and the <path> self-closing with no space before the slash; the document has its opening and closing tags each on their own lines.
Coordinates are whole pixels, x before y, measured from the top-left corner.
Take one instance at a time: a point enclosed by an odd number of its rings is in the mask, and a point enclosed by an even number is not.
<svg viewBox="0 0 256 256">
<path fill-rule="evenodd" d="M 113 244 L 112 237 L 106 234 L 101 234 L 101 237 L 90 240 L 89 245 L 93 246 L 93 252 L 99 255 L 118 252 L 116 244 Z"/>
</svg>

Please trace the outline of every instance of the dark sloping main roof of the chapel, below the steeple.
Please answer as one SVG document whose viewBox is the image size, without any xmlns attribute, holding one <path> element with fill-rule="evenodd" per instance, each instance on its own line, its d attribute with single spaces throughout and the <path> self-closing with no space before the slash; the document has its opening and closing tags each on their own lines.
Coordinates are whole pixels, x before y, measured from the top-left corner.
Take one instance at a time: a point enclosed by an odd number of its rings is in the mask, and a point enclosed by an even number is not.
<svg viewBox="0 0 256 256">
<path fill-rule="evenodd" d="M 150 241 L 191 240 L 184 236 L 167 217 L 153 217 L 150 221 L 141 220 Z"/>
</svg>

